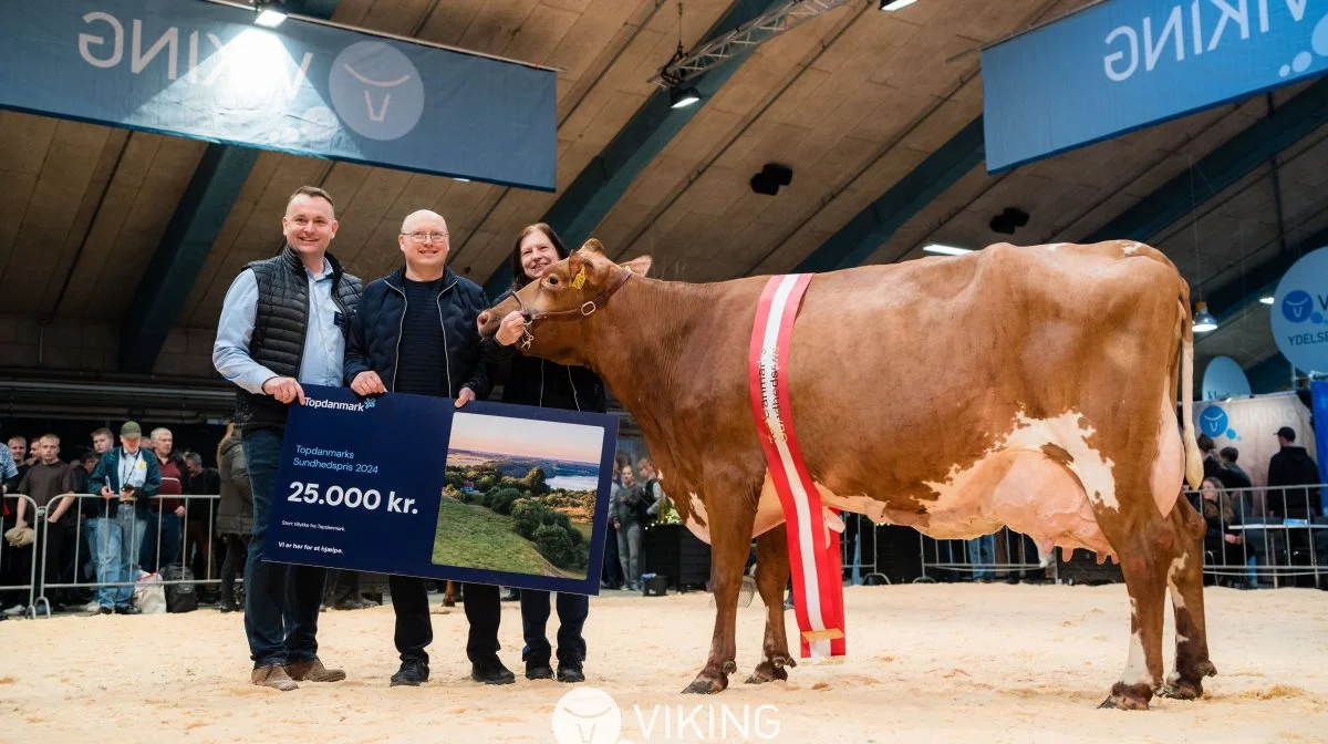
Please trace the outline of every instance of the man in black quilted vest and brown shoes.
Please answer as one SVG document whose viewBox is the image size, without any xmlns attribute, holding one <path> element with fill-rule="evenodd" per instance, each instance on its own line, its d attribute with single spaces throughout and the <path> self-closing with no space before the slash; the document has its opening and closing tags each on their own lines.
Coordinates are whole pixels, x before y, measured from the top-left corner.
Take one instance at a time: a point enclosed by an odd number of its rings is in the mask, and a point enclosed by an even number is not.
<svg viewBox="0 0 1328 744">
<path fill-rule="evenodd" d="M 345 333 L 363 284 L 327 252 L 336 236 L 332 197 L 301 186 L 282 218 L 286 247 L 255 260 L 226 292 L 212 364 L 240 389 L 235 424 L 254 492 L 254 539 L 244 565 L 244 632 L 254 659 L 251 682 L 295 690 L 297 680 L 337 682 L 317 656 L 324 570 L 268 563 L 263 538 L 276 486 L 287 408 L 304 388 L 340 385 Z"/>
</svg>

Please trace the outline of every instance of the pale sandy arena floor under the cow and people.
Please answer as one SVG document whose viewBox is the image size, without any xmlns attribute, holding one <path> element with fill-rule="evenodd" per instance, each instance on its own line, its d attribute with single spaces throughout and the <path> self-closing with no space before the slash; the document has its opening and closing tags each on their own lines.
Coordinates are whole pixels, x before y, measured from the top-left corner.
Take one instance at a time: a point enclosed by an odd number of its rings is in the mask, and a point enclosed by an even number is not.
<svg viewBox="0 0 1328 744">
<path fill-rule="evenodd" d="M 684 696 L 709 647 L 708 602 L 704 594 L 622 593 L 592 601 L 587 686 L 608 692 L 623 711 L 620 740 L 1328 741 L 1328 594 L 1321 591 L 1208 590 L 1219 676 L 1207 680 L 1201 701 L 1154 700 L 1143 713 L 1096 709 L 1125 663 L 1123 586 L 853 587 L 847 660 L 799 666 L 788 683 L 764 687 L 742 684 L 758 660 L 757 598 L 740 611 L 740 671 L 729 690 Z M 425 687 L 388 687 L 397 666 L 392 610 L 376 607 L 325 612 L 321 656 L 349 678 L 288 694 L 247 683 L 235 614 L 0 623 L 0 728 L 7 741 L 117 744 L 554 741 L 551 716 L 570 687 L 519 676 L 517 604 L 503 604 L 501 638 L 518 680 L 497 688 L 467 678 L 459 607 L 436 602 L 434 612 L 433 678 Z M 786 622 L 791 636 L 791 612 Z M 1167 626 L 1171 648 L 1170 616 Z M 1170 660 L 1169 652 L 1169 668 Z M 699 704 L 695 723 L 681 733 L 671 725 L 665 736 L 665 719 L 688 720 Z M 757 716 L 760 705 L 773 708 Z M 737 723 L 744 715 L 745 729 Z"/>
</svg>

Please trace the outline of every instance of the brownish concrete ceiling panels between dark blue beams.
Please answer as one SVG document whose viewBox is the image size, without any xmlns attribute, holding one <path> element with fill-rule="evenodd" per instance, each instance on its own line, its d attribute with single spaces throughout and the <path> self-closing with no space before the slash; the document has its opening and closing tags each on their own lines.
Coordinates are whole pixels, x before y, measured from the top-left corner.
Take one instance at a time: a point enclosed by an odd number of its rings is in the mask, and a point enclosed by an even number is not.
<svg viewBox="0 0 1328 744">
<path fill-rule="evenodd" d="M 615 256 L 652 254 L 675 279 L 790 271 L 981 114 L 980 57 L 972 52 L 1085 4 L 920 0 L 882 13 L 876 0 L 846 3 L 744 61 L 594 235 Z M 703 41 L 730 5 L 684 3 L 684 45 Z M 393 268 L 401 218 L 433 209 L 449 221 L 453 268 L 483 283 L 518 230 L 548 211 L 656 90 L 649 78 L 679 35 L 677 7 L 663 0 L 341 0 L 333 20 L 559 68 L 559 191 L 262 153 L 175 320 L 158 373 L 210 373 L 206 351 L 226 288 L 246 262 L 278 250 L 286 198 L 303 183 L 336 198 L 341 230 L 333 251 L 356 274 Z M 1279 90 L 1274 105 L 1304 88 Z M 1005 174 L 977 166 L 904 221 L 867 262 L 918 258 L 927 242 L 1081 240 L 1267 116 L 1259 97 Z M 1328 178 L 1325 140 L 1328 128 L 1278 158 L 1288 243 L 1328 227 L 1320 189 Z M 205 147 L 0 112 L 0 315 L 122 322 Z M 777 197 L 748 186 L 768 162 L 794 171 Z M 1193 173 L 1201 183 L 1206 178 Z M 1272 183 L 1272 167 L 1263 165 L 1150 242 L 1197 290 L 1236 282 L 1244 267 L 1283 250 Z M 1005 207 L 1031 214 L 1015 236 L 988 227 Z M 1231 353 L 1243 364 L 1268 357 L 1266 316 L 1259 308 L 1243 312 L 1232 319 L 1239 328 L 1202 339 L 1201 355 Z M 193 361 L 167 359 L 182 351 Z"/>
</svg>

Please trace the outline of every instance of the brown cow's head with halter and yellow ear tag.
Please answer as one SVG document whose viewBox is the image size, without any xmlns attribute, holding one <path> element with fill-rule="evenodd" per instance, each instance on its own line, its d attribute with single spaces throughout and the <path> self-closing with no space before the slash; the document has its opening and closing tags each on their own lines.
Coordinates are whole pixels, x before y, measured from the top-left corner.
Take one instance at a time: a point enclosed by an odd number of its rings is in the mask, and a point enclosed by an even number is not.
<svg viewBox="0 0 1328 744">
<path fill-rule="evenodd" d="M 591 343 L 588 320 L 608 311 L 611 298 L 633 274 L 645 276 L 649 268 L 648 255 L 624 264 L 614 263 L 592 238 L 579 251 L 544 270 L 538 282 L 481 312 L 479 336 L 491 337 L 505 318 L 519 312 L 526 324 L 518 348 L 560 364 L 584 367 Z"/>
</svg>

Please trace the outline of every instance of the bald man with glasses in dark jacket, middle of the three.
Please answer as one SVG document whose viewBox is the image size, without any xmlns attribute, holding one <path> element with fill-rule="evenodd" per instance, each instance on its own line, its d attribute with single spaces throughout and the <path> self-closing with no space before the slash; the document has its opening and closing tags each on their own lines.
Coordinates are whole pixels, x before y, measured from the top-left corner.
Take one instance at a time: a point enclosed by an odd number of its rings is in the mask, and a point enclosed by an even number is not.
<svg viewBox="0 0 1328 744">
<path fill-rule="evenodd" d="M 397 243 L 402 268 L 371 282 L 351 322 L 345 383 L 361 396 L 400 392 L 457 399 L 457 408 L 489 396 L 475 319 L 485 310 L 478 284 L 448 268 L 448 223 L 428 210 L 401 223 Z M 418 686 L 429 679 L 433 624 L 424 579 L 389 577 L 401 668 L 392 686 Z M 470 639 L 470 676 L 507 684 L 515 676 L 498 659 L 498 587 L 463 583 Z"/>
</svg>

